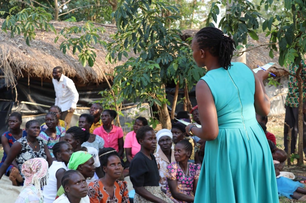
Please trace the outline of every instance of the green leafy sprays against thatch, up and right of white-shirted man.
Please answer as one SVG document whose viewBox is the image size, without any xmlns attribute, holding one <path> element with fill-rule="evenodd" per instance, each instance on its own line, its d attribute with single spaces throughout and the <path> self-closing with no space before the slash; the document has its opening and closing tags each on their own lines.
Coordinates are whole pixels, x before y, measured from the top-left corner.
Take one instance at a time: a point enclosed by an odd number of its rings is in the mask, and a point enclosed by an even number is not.
<svg viewBox="0 0 306 203">
<path fill-rule="evenodd" d="M 106 45 L 104 41 L 100 40 L 99 36 L 103 32 L 104 29 L 102 27 L 95 27 L 93 23 L 86 22 L 81 27 L 65 27 L 54 42 L 56 43 L 60 36 L 64 37 L 65 40 L 61 43 L 60 50 L 65 54 L 72 47 L 73 54 L 79 52 L 78 58 L 81 64 L 85 67 L 88 62 L 88 65 L 92 67 L 96 58 L 94 45 L 97 43 Z M 71 37 L 73 34 L 77 34 L 77 36 Z"/>
</svg>

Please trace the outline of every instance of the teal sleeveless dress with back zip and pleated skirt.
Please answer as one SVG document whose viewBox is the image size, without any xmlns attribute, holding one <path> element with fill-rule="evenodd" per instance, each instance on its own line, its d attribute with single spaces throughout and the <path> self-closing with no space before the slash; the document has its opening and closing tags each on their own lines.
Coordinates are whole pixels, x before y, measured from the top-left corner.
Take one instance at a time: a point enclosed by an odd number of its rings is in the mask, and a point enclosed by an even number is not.
<svg viewBox="0 0 306 203">
<path fill-rule="evenodd" d="M 252 70 L 232 62 L 230 69 L 210 70 L 201 80 L 211 89 L 219 134 L 206 141 L 194 202 L 278 202 L 271 151 L 255 117 Z"/>
</svg>

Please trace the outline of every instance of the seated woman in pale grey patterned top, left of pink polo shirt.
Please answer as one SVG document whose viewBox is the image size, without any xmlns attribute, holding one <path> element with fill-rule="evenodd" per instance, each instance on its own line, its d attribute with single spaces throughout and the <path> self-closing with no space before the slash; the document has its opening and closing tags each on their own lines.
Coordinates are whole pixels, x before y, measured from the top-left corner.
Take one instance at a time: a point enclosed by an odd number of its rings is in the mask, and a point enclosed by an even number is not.
<svg viewBox="0 0 306 203">
<path fill-rule="evenodd" d="M 94 117 L 88 113 L 84 113 L 79 118 L 79 127 L 84 128 L 85 130 L 90 132 L 89 130 L 93 122 Z M 96 148 L 97 151 L 99 151 L 104 147 L 104 140 L 102 137 L 91 133 L 88 138 L 88 141 L 84 142 L 82 144 L 82 147 L 93 147 Z"/>
</svg>

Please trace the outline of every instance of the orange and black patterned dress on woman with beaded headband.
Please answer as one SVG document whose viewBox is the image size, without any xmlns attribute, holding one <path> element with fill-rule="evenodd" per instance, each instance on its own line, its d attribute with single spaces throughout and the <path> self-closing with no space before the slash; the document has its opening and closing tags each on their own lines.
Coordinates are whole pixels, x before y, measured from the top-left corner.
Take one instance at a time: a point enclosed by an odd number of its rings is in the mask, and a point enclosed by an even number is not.
<svg viewBox="0 0 306 203">
<path fill-rule="evenodd" d="M 116 180 L 114 183 L 114 197 L 111 199 L 101 180 L 96 180 L 88 185 L 90 203 L 129 203 L 129 191 L 126 181 Z"/>
</svg>

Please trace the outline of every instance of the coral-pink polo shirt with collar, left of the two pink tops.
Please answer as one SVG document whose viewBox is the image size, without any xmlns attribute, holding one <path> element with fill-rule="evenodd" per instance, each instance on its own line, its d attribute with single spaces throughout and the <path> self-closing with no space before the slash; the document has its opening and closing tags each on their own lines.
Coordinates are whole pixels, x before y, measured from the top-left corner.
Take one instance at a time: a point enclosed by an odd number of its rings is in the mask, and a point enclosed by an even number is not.
<svg viewBox="0 0 306 203">
<path fill-rule="evenodd" d="M 123 130 L 121 127 L 113 126 L 113 129 L 107 133 L 103 126 L 98 127 L 94 130 L 93 134 L 99 135 L 104 139 L 104 147 L 112 147 L 117 152 L 119 151 L 118 139 L 123 137 Z"/>
</svg>

